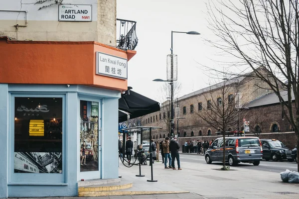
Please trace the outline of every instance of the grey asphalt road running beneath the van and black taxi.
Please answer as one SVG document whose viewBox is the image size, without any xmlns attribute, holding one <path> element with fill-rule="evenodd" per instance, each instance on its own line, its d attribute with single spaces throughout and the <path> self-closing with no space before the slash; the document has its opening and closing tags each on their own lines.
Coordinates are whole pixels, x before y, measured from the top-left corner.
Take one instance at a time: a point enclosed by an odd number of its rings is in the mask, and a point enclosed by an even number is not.
<svg viewBox="0 0 299 199">
<path fill-rule="evenodd" d="M 180 155 L 180 162 L 181 167 L 183 167 L 184 162 L 188 163 L 196 163 L 196 164 L 207 164 L 204 156 L 202 155 L 189 155 L 189 154 L 179 154 Z M 221 166 L 221 162 L 213 162 L 214 165 Z M 286 169 L 289 169 L 291 171 L 297 171 L 297 163 L 296 162 L 273 162 L 273 161 L 261 161 L 259 166 L 254 166 L 253 164 L 249 163 L 240 163 L 234 167 L 243 167 L 246 169 L 254 169 L 254 170 L 260 170 L 260 171 L 270 171 L 270 172 L 283 172 L 286 171 Z M 233 168 L 232 168 L 233 169 Z"/>
</svg>

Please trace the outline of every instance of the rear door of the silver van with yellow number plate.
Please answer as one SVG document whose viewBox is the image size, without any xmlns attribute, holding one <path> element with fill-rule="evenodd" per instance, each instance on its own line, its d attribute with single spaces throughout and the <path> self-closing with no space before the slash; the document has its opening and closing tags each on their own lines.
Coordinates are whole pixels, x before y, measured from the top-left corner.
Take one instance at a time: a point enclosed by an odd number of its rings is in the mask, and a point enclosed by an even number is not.
<svg viewBox="0 0 299 199">
<path fill-rule="evenodd" d="M 258 137 L 238 138 L 239 157 L 246 160 L 261 158 L 261 145 Z"/>
</svg>

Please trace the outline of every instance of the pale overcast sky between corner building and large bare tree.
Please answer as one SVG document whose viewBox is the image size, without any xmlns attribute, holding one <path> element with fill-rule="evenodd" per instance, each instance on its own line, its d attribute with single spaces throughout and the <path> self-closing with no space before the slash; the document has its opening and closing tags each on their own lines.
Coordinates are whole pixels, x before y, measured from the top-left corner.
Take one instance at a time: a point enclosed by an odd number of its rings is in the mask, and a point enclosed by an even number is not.
<svg viewBox="0 0 299 199">
<path fill-rule="evenodd" d="M 173 33 L 173 54 L 178 58 L 179 96 L 214 84 L 202 65 L 217 66 L 217 50 L 207 40 L 216 40 L 209 29 L 208 0 L 117 0 L 117 18 L 137 21 L 137 54 L 128 62 L 128 86 L 133 91 L 162 102 L 166 57 L 170 54 L 171 31 L 197 31 L 200 35 Z M 218 80 L 219 82 L 219 80 Z M 164 96 L 163 96 L 164 95 Z"/>
</svg>

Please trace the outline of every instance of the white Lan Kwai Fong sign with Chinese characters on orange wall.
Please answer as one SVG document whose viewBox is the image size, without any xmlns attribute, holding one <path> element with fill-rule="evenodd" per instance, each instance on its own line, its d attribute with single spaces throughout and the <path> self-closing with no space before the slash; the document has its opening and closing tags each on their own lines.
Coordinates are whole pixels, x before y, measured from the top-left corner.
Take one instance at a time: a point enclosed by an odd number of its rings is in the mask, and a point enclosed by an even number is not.
<svg viewBox="0 0 299 199">
<path fill-rule="evenodd" d="M 97 53 L 96 74 L 110 76 L 118 79 L 128 79 L 128 60 L 108 55 L 101 52 Z"/>
</svg>

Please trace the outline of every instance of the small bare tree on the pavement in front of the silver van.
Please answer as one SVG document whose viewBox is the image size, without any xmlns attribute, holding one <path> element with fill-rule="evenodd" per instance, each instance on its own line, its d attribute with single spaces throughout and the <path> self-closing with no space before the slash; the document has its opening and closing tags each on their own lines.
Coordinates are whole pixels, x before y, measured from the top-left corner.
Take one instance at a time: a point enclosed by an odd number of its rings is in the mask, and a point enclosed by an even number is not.
<svg viewBox="0 0 299 199">
<path fill-rule="evenodd" d="M 223 143 L 218 143 L 223 146 L 223 169 L 225 167 L 225 134 L 230 128 L 236 129 L 238 125 L 238 103 L 241 99 L 235 100 L 232 93 L 235 92 L 234 86 L 229 81 L 223 82 L 223 84 L 217 84 L 210 87 L 211 90 L 205 94 L 199 96 L 204 97 L 206 104 L 201 104 L 201 110 L 194 111 L 203 121 L 214 129 L 221 131 L 223 135 Z M 237 96 L 239 97 L 239 96 Z M 202 101 L 202 99 L 198 99 Z"/>
</svg>

